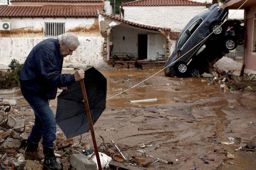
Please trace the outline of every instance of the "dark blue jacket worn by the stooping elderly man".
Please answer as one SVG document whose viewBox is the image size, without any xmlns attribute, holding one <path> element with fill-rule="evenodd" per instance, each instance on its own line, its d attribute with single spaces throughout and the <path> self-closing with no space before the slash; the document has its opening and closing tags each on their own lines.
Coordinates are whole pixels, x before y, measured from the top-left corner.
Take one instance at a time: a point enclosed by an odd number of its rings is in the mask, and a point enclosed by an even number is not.
<svg viewBox="0 0 256 170">
<path fill-rule="evenodd" d="M 61 74 L 62 64 L 58 40 L 49 38 L 38 43 L 20 72 L 20 88 L 44 99 L 55 99 L 58 87 L 75 82 L 73 74 Z"/>
</svg>

